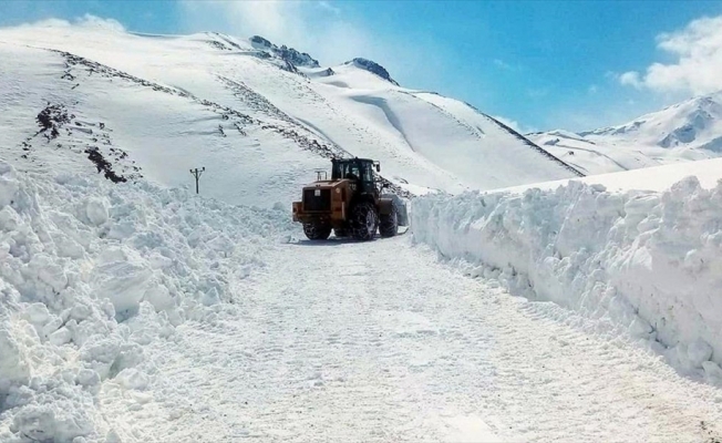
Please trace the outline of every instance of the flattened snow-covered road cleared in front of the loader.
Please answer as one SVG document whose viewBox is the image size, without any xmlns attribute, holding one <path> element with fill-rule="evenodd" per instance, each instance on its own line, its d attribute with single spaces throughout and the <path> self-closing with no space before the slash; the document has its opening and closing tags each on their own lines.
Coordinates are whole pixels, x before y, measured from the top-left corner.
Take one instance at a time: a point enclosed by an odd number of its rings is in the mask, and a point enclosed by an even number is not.
<svg viewBox="0 0 722 443">
<path fill-rule="evenodd" d="M 719 389 L 409 236 L 269 254 L 216 321 L 147 349 L 154 401 L 103 393 L 109 416 L 162 442 L 720 441 Z"/>
</svg>

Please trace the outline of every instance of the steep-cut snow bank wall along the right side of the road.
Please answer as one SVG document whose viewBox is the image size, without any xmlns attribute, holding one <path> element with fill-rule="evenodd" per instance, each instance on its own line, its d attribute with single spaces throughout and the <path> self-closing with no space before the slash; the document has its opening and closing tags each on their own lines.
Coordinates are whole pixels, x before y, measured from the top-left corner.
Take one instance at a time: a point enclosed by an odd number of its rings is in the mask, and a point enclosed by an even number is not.
<svg viewBox="0 0 722 443">
<path fill-rule="evenodd" d="M 429 195 L 414 200 L 412 230 L 474 275 L 625 327 L 683 372 L 722 382 L 722 181 Z"/>
</svg>

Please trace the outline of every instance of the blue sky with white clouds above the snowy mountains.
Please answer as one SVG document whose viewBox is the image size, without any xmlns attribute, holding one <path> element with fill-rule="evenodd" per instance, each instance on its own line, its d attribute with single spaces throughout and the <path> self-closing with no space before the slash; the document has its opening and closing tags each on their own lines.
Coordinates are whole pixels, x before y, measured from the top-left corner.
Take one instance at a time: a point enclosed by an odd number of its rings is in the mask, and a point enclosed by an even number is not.
<svg viewBox="0 0 722 443">
<path fill-rule="evenodd" d="M 85 13 L 138 32 L 259 33 L 322 64 L 370 58 L 523 130 L 620 124 L 722 89 L 722 1 L 4 0 L 0 25 Z"/>
</svg>

